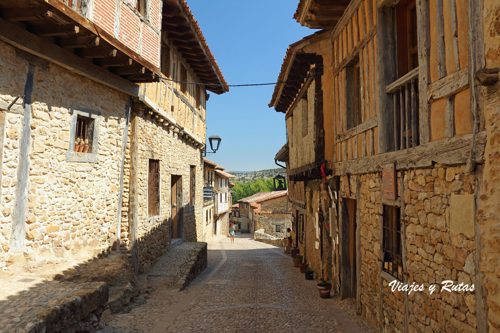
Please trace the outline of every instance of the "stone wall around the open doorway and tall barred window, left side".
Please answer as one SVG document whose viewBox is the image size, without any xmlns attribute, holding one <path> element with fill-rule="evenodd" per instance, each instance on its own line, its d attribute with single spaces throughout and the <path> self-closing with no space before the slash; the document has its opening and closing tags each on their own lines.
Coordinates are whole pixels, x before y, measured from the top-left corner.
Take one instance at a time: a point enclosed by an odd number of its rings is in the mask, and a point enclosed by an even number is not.
<svg viewBox="0 0 500 333">
<path fill-rule="evenodd" d="M 170 196 L 171 176 L 181 176 L 182 182 L 182 205 L 183 205 L 183 231 L 182 240 L 193 242 L 202 238 L 202 207 L 203 207 L 203 179 L 202 160 L 199 149 L 188 144 L 173 131 L 155 121 L 154 114 L 148 112 L 134 111 L 132 114 L 132 128 L 127 145 L 127 159 L 125 161 L 125 174 L 130 172 L 131 161 L 136 156 L 136 199 L 130 202 L 129 180 L 124 187 L 123 200 L 124 219 L 121 224 L 121 245 L 125 251 L 130 250 L 130 233 L 133 221 L 130 221 L 130 210 L 135 210 L 137 216 L 136 241 L 137 241 L 137 263 L 139 272 L 144 272 L 154 261 L 169 249 L 170 242 Z M 136 137 L 134 138 L 134 135 Z M 136 152 L 130 151 L 131 142 L 136 140 Z M 159 160 L 160 172 L 160 214 L 155 217 L 148 216 L 148 163 L 149 159 Z M 189 203 L 189 172 L 190 166 L 196 167 L 195 205 Z M 137 200 L 134 205 L 133 200 Z M 129 208 L 130 207 L 130 210 Z M 132 223 L 132 225 L 130 225 Z M 133 231 L 132 231 L 133 234 Z M 133 255 L 133 254 L 132 254 Z"/>
</svg>

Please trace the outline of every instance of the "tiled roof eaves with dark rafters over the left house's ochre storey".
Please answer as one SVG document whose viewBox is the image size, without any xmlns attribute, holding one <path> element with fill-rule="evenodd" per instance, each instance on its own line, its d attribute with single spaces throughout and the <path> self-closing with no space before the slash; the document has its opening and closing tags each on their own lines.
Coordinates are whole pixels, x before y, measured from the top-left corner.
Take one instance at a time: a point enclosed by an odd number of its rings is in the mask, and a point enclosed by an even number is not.
<svg viewBox="0 0 500 333">
<path fill-rule="evenodd" d="M 161 30 L 167 33 L 206 90 L 229 91 L 227 82 L 185 0 L 163 0 Z"/>
</svg>

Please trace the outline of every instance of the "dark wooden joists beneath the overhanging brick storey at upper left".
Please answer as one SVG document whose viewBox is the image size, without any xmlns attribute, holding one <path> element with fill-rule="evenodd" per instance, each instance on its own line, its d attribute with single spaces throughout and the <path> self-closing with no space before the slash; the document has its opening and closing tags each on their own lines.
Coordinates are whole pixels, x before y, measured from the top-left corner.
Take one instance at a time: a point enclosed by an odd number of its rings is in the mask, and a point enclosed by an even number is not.
<svg viewBox="0 0 500 333">
<path fill-rule="evenodd" d="M 57 64 L 72 71 L 81 68 L 83 76 L 101 67 L 134 83 L 159 78 L 155 64 L 61 1 L 0 0 L 0 12 L 0 39 L 51 62 L 61 58 L 55 56 L 61 51 L 73 53 L 88 65 L 82 62 L 69 68 L 74 57 Z M 19 43 L 19 38 L 25 43 Z"/>
</svg>

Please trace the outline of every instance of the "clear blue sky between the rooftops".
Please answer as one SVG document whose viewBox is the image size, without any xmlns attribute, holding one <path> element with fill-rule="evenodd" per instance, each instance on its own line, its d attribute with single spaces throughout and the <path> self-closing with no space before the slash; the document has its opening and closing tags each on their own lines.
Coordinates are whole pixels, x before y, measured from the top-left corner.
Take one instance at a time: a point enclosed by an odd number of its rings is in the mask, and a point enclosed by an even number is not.
<svg viewBox="0 0 500 333">
<path fill-rule="evenodd" d="M 316 30 L 293 18 L 298 0 L 187 0 L 228 84 L 275 82 L 286 47 Z M 210 93 L 206 134 L 222 138 L 207 158 L 229 171 L 277 168 L 284 114 L 269 108 L 274 85 Z M 208 142 L 207 142 L 208 145 Z"/>
</svg>

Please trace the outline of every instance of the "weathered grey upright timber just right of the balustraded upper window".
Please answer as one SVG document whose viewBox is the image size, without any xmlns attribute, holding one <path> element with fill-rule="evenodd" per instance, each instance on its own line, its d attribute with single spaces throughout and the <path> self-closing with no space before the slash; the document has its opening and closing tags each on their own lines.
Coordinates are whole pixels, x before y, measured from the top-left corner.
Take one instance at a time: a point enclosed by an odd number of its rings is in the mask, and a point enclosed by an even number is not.
<svg viewBox="0 0 500 333">
<path fill-rule="evenodd" d="M 430 141 L 430 104 L 427 86 L 430 83 L 430 22 L 429 0 L 418 1 L 416 5 L 416 25 L 418 43 L 418 120 L 420 144 Z"/>
</svg>

